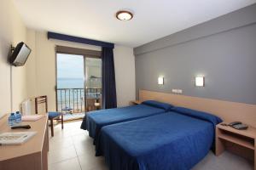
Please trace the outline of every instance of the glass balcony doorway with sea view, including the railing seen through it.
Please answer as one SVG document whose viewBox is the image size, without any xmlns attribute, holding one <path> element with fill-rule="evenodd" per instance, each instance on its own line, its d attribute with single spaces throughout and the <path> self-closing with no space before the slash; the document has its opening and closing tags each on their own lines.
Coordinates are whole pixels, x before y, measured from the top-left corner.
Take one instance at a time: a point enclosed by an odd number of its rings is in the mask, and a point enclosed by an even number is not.
<svg viewBox="0 0 256 170">
<path fill-rule="evenodd" d="M 101 109 L 102 59 L 56 54 L 57 111 L 68 114 Z"/>
</svg>

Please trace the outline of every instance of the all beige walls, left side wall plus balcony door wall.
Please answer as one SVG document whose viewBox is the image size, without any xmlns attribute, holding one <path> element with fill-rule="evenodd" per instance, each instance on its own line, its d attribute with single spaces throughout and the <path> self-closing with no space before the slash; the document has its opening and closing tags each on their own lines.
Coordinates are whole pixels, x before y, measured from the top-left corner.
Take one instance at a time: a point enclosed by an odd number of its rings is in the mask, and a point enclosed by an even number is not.
<svg viewBox="0 0 256 170">
<path fill-rule="evenodd" d="M 74 42 L 48 40 L 46 32 L 26 29 L 13 3 L 1 1 L 0 6 L 0 117 L 11 111 L 11 67 L 7 62 L 10 45 L 26 42 L 32 54 L 22 67 L 12 67 L 13 111 L 20 103 L 38 95 L 49 96 L 49 110 L 55 111 L 55 45 L 101 50 L 100 47 Z M 114 48 L 118 106 L 135 99 L 135 66 L 132 48 Z"/>
</svg>

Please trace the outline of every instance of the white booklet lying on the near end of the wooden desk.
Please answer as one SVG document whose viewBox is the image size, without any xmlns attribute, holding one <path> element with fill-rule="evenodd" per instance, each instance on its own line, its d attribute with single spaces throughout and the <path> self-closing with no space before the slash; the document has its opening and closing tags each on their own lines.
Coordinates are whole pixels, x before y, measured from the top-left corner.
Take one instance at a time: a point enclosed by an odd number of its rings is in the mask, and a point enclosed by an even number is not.
<svg viewBox="0 0 256 170">
<path fill-rule="evenodd" d="M 31 139 L 37 132 L 15 132 L 15 133 L 1 133 L 0 145 L 3 144 L 23 144 L 28 139 Z"/>
</svg>

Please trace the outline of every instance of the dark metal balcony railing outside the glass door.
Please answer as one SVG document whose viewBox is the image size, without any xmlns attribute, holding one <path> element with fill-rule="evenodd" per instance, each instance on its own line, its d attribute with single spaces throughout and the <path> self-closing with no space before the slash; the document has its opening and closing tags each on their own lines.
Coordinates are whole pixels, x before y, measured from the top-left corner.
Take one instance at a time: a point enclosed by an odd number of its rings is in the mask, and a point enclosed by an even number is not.
<svg viewBox="0 0 256 170">
<path fill-rule="evenodd" d="M 56 95 L 57 111 L 79 113 L 101 107 L 102 88 L 57 88 Z"/>
</svg>

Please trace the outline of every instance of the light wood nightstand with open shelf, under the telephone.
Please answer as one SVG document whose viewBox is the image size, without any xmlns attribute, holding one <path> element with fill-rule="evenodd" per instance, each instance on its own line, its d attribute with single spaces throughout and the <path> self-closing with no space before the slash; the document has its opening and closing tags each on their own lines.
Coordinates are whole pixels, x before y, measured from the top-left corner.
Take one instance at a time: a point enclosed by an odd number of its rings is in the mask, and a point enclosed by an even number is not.
<svg viewBox="0 0 256 170">
<path fill-rule="evenodd" d="M 225 149 L 254 161 L 254 170 L 256 170 L 255 127 L 237 130 L 233 127 L 218 124 L 216 126 L 216 156 L 221 155 Z"/>
</svg>

